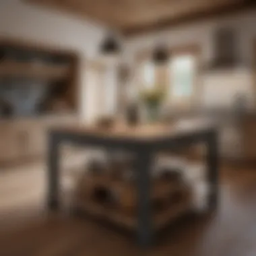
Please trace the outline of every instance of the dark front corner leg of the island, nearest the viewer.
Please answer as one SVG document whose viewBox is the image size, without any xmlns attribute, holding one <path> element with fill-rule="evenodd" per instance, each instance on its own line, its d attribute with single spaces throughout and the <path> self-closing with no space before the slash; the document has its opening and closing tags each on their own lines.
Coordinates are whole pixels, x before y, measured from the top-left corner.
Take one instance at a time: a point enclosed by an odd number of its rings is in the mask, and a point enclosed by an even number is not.
<svg viewBox="0 0 256 256">
<path fill-rule="evenodd" d="M 152 154 L 138 152 L 135 174 L 137 175 L 137 241 L 141 247 L 149 247 L 153 239 L 152 209 L 150 201 L 150 167 Z"/>
</svg>

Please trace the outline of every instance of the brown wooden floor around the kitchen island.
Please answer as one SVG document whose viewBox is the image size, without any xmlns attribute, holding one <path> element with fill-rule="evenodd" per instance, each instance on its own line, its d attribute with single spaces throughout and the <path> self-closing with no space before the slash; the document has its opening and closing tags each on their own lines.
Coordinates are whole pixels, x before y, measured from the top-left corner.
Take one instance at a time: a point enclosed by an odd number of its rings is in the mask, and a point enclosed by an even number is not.
<svg viewBox="0 0 256 256">
<path fill-rule="evenodd" d="M 0 255 L 256 255 L 256 169 L 222 169 L 216 215 L 177 224 L 147 251 L 88 218 L 47 213 L 43 168 L 1 172 Z"/>
</svg>

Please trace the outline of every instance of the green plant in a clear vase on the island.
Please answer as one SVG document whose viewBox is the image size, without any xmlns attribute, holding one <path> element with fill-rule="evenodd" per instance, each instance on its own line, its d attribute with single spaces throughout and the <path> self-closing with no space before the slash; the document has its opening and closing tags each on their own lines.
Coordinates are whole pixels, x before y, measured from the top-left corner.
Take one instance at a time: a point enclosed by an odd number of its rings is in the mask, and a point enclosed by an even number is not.
<svg viewBox="0 0 256 256">
<path fill-rule="evenodd" d="M 155 86 L 141 92 L 141 100 L 146 106 L 149 121 L 157 121 L 159 117 L 160 106 L 164 100 L 164 91 L 159 88 L 159 86 Z"/>
</svg>

